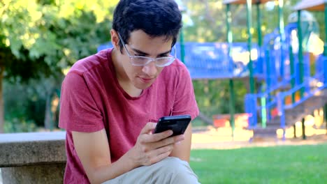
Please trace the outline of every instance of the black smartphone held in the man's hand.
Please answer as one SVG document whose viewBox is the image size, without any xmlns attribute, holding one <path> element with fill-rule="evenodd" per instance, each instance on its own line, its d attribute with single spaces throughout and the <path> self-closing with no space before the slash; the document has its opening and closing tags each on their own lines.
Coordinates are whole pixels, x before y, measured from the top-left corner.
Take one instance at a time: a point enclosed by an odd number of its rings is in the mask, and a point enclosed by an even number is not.
<svg viewBox="0 0 327 184">
<path fill-rule="evenodd" d="M 159 118 L 154 133 L 164 132 L 166 130 L 173 130 L 173 135 L 184 134 L 187 126 L 191 122 L 191 116 L 187 115 L 177 115 L 177 116 L 163 116 Z"/>
</svg>

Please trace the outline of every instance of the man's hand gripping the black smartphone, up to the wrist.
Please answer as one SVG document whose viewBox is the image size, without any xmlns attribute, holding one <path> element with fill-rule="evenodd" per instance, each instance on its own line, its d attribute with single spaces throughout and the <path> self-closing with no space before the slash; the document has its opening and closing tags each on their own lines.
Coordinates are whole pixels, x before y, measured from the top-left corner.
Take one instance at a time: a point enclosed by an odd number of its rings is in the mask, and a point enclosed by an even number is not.
<svg viewBox="0 0 327 184">
<path fill-rule="evenodd" d="M 136 167 L 151 165 L 167 158 L 177 142 L 184 140 L 184 135 L 173 135 L 172 130 L 152 134 L 156 123 L 147 123 L 141 130 L 135 146 L 127 153 Z"/>
</svg>

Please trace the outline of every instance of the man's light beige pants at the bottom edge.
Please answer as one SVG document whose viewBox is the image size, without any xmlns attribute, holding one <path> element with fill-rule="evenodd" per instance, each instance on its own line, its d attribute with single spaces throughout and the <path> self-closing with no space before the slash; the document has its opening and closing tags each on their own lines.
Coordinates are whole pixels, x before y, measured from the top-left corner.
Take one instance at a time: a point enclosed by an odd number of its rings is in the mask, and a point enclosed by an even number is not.
<svg viewBox="0 0 327 184">
<path fill-rule="evenodd" d="M 198 177 L 189 167 L 189 163 L 179 158 L 168 157 L 156 164 L 133 169 L 105 184 L 125 183 L 198 183 Z"/>
</svg>

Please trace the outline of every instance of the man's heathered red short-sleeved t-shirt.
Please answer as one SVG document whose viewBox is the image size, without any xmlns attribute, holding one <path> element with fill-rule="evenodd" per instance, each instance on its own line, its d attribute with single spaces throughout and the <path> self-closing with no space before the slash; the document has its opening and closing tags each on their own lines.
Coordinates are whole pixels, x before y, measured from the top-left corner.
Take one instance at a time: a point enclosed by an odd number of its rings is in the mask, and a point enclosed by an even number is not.
<svg viewBox="0 0 327 184">
<path fill-rule="evenodd" d="M 149 121 L 161 116 L 198 116 L 191 77 L 177 59 L 138 97 L 122 89 L 111 59 L 112 49 L 76 62 L 61 86 L 59 127 L 66 129 L 64 183 L 89 183 L 75 151 L 71 131 L 106 129 L 111 162 L 129 151 Z"/>
</svg>

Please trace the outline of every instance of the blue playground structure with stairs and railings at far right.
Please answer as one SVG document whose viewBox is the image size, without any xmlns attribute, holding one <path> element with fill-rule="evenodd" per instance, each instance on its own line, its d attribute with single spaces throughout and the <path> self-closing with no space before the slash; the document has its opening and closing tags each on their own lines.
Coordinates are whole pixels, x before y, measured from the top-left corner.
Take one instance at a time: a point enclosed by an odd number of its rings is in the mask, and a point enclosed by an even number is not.
<svg viewBox="0 0 327 184">
<path fill-rule="evenodd" d="M 315 3 L 316 4 L 314 4 L 313 1 L 301 1 L 298 3 L 295 7 L 297 16 L 291 15 L 290 19 L 293 20 L 291 21 L 293 23 L 286 26 L 285 29 L 286 32 L 288 32 L 286 36 L 289 37 L 286 37 L 286 43 L 284 43 L 284 45 L 289 47 L 289 49 L 285 50 L 282 47 L 278 47 L 277 52 L 270 52 L 270 55 L 265 57 L 268 59 L 266 60 L 266 68 L 271 68 L 269 61 L 274 58 L 273 54 L 288 52 L 289 59 L 284 63 L 289 63 L 289 77 L 285 77 L 285 75 L 282 75 L 282 72 L 280 72 L 279 76 L 281 76 L 282 79 L 274 79 L 274 82 L 277 82 L 276 86 L 267 85 L 268 87 L 263 93 L 248 94 L 245 98 L 247 104 L 246 111 L 252 114 L 249 121 L 250 128 L 254 130 L 254 135 L 276 135 L 276 130 L 278 128 L 285 129 L 287 126 L 294 125 L 296 121 L 301 120 L 303 126 L 303 139 L 305 139 L 304 117 L 306 115 L 312 114 L 314 109 L 318 109 L 325 105 L 324 114 L 326 119 L 326 43 L 324 55 L 319 56 L 317 61 L 314 59 L 314 63 L 317 63 L 317 71 L 314 75 L 310 75 L 308 71 L 308 68 L 310 68 L 310 55 L 307 53 L 303 55 L 303 53 L 310 51 L 310 47 L 303 47 L 303 45 L 310 44 L 303 43 L 308 43 L 308 40 L 310 41 L 312 37 L 314 38 L 314 34 L 317 34 L 317 25 L 308 24 L 308 22 L 314 23 L 314 21 L 309 21 L 310 19 L 305 15 L 310 14 L 306 12 L 303 13 L 302 10 L 310 9 L 313 5 L 317 8 L 317 4 L 319 4 L 319 6 L 325 4 L 324 1 L 315 1 Z M 306 18 L 304 21 L 301 20 L 303 17 Z M 294 22 L 296 22 L 296 24 Z M 312 30 L 303 31 L 303 28 Z M 294 36 L 296 35 L 298 37 L 297 43 L 294 42 L 296 40 Z M 298 48 L 295 48 L 295 45 Z M 287 67 L 282 65 L 280 68 Z M 268 76 L 270 76 L 269 72 L 267 73 Z M 270 83 L 269 80 L 273 80 L 271 77 L 267 77 L 266 79 L 267 84 Z M 291 89 L 284 90 L 281 88 L 290 83 Z M 258 117 L 261 120 L 261 125 L 257 124 Z M 295 128 L 295 126 L 293 127 Z"/>
</svg>

